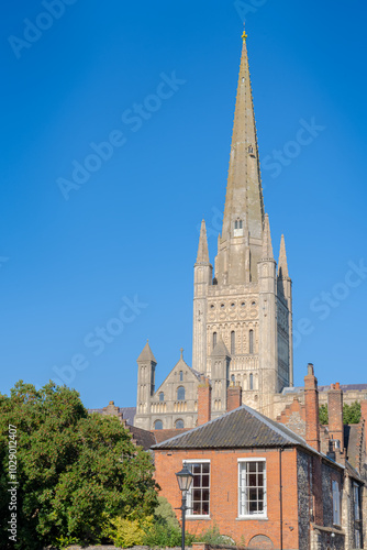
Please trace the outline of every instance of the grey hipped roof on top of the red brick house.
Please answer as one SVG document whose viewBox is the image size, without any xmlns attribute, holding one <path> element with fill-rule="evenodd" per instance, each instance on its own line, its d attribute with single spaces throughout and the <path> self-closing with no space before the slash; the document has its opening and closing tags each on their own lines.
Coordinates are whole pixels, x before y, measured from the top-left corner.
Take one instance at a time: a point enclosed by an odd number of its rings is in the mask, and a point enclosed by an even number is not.
<svg viewBox="0 0 367 550">
<path fill-rule="evenodd" d="M 193 430 L 163 441 L 152 449 L 244 449 L 301 446 L 304 439 L 260 413 L 242 405 Z"/>
</svg>

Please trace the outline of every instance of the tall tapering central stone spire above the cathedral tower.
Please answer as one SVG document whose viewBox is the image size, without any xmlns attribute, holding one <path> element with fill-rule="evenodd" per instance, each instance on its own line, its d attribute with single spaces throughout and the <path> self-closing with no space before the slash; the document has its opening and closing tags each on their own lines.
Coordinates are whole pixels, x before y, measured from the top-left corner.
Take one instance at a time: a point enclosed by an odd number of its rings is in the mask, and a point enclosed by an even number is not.
<svg viewBox="0 0 367 550">
<path fill-rule="evenodd" d="M 253 238 L 262 239 L 264 226 L 262 179 L 246 37 L 244 32 L 222 239 L 233 237 L 236 220 L 242 220 L 245 234 L 249 232 Z"/>
</svg>

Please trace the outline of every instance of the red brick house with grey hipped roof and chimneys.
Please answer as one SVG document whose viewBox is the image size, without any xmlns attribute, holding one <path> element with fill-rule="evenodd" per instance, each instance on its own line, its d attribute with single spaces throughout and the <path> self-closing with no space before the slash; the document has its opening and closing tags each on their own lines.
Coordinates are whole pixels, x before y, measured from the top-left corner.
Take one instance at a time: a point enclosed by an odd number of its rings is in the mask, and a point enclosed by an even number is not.
<svg viewBox="0 0 367 550">
<path fill-rule="evenodd" d="M 229 388 L 229 413 L 210 420 L 210 384 L 199 392 L 200 426 L 153 447 L 156 480 L 174 508 L 181 498 L 175 473 L 186 463 L 194 475 L 188 531 L 216 525 L 222 535 L 248 548 L 364 548 L 363 472 L 347 460 L 349 451 L 341 441 L 340 424 L 333 426 L 332 410 L 331 429 L 320 435 L 312 365 L 305 376 L 305 403 L 300 405 L 304 437 L 241 405 L 240 387 Z M 362 425 L 364 433 L 364 419 Z M 358 439 L 358 430 L 353 431 L 352 439 Z"/>
</svg>

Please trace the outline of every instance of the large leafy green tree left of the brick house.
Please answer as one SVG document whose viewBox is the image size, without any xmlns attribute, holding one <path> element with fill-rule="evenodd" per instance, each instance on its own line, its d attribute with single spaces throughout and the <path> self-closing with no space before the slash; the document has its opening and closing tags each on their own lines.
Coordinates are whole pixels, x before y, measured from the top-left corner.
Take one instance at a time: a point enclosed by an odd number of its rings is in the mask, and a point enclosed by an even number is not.
<svg viewBox="0 0 367 550">
<path fill-rule="evenodd" d="M 108 519 L 141 519 L 157 505 L 149 455 L 116 418 L 88 415 L 79 394 L 19 382 L 0 395 L 0 539 L 9 541 L 9 425 L 16 427 L 18 542 L 99 542 Z M 9 541 L 10 542 L 10 541 Z"/>
</svg>

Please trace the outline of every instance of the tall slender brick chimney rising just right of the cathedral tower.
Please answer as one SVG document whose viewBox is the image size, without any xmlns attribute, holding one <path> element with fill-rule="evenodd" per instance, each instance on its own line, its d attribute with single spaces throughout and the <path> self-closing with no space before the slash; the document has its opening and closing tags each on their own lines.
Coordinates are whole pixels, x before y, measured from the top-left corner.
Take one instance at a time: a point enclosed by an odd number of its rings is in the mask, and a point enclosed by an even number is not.
<svg viewBox="0 0 367 550">
<path fill-rule="evenodd" d="M 308 374 L 304 376 L 304 405 L 305 405 L 305 441 L 320 452 L 320 425 L 319 425 L 319 391 L 318 378 L 313 372 L 313 364 L 308 364 Z"/>
</svg>

